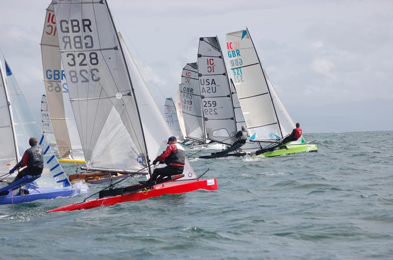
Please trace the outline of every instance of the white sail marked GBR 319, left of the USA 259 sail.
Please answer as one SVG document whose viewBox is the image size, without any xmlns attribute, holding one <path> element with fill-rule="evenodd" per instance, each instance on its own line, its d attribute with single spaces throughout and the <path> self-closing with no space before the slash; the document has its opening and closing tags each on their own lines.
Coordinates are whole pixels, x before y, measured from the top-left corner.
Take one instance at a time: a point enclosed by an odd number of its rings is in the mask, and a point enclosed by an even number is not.
<svg viewBox="0 0 393 260">
<path fill-rule="evenodd" d="M 187 63 L 181 76 L 181 102 L 186 138 L 206 142 L 197 63 Z"/>
</svg>

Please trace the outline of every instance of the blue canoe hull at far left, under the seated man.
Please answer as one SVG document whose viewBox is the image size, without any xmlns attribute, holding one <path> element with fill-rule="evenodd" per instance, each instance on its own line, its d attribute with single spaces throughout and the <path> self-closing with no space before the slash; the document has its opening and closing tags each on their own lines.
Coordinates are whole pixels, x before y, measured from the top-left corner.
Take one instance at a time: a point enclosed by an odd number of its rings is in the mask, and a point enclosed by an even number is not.
<svg viewBox="0 0 393 260">
<path fill-rule="evenodd" d="M 28 189 L 29 194 L 20 196 L 0 196 L 0 205 L 19 204 L 39 199 L 55 199 L 58 197 L 76 196 L 81 193 L 80 189 Z"/>
</svg>

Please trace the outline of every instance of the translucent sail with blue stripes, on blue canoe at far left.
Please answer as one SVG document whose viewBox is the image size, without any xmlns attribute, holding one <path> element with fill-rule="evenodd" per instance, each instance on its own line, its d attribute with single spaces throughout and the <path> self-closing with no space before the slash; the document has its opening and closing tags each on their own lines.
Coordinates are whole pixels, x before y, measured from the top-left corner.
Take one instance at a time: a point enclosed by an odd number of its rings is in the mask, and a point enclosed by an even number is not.
<svg viewBox="0 0 393 260">
<path fill-rule="evenodd" d="M 8 118 L 6 113 L 1 113 L 0 121 L 6 122 L 6 124 L 12 122 L 16 136 L 16 141 L 10 144 L 9 140 L 13 140 L 13 138 L 7 136 L 9 138 L 8 140 L 4 138 L 5 136 L 1 135 L 0 146 L 10 151 L 16 150 L 17 152 L 17 157 L 13 158 L 8 165 L 13 167 L 16 163 L 16 159 L 18 158 L 18 160 L 20 160 L 22 158 L 25 150 L 30 148 L 28 144 L 29 138 L 35 137 L 39 141 L 39 145 L 44 150 L 44 170 L 42 172 L 42 177 L 36 181 L 38 186 L 40 188 L 71 189 L 72 185 L 69 182 L 68 177 L 65 175 L 61 165 L 57 162 L 49 144 L 46 142 L 39 124 L 28 109 L 28 104 L 26 103 L 25 97 L 19 88 L 10 67 L 3 58 L 0 59 L 0 62 L 1 64 L 4 64 L 6 72 L 4 76 L 3 67 L 1 65 L 1 78 L 5 78 L 5 82 L 3 82 L 2 86 L 3 91 L 0 92 L 0 100 L 1 102 L 3 102 L 4 99 L 7 100 L 9 102 L 9 111 L 11 111 L 11 113 L 8 114 Z M 4 103 L 1 103 L 1 107 L 3 107 L 3 105 Z M 6 128 L 8 128 L 8 126 Z M 7 132 L 7 135 L 9 135 L 9 130 Z M 7 157 L 9 157 L 9 155 L 7 155 Z M 3 167 L 1 167 L 1 170 L 4 170 Z"/>
</svg>

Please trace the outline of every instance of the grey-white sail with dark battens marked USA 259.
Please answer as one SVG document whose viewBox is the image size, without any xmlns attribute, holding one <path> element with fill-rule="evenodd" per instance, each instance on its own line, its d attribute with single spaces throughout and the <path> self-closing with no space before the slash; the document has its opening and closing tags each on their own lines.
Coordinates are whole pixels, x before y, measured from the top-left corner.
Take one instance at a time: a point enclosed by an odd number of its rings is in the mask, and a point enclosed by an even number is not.
<svg viewBox="0 0 393 260">
<path fill-rule="evenodd" d="M 217 37 L 199 39 L 198 77 L 209 140 L 232 144 L 236 122 L 225 62 Z"/>
</svg>

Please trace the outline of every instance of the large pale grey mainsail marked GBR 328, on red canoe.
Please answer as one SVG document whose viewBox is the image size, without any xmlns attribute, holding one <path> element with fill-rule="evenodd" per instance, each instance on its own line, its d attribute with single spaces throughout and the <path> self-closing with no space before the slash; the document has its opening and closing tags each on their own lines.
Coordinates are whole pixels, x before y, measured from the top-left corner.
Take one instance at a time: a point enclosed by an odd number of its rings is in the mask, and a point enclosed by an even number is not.
<svg viewBox="0 0 393 260">
<path fill-rule="evenodd" d="M 106 1 L 52 1 L 86 165 L 140 170 L 148 161 L 132 83 Z"/>
</svg>

